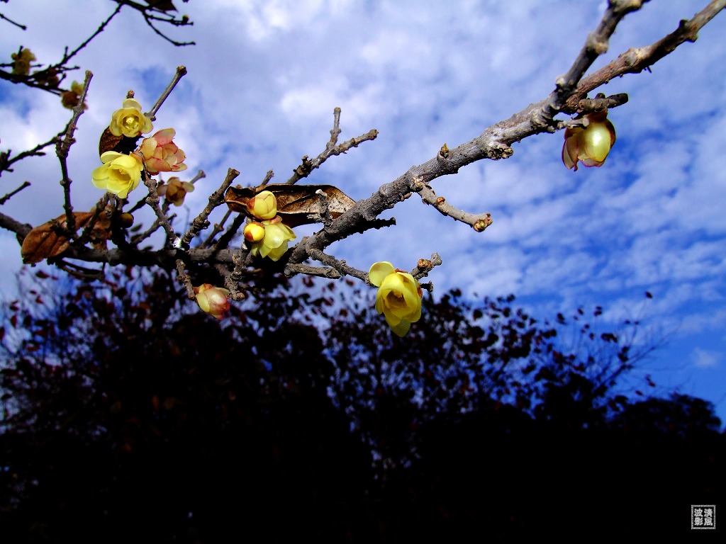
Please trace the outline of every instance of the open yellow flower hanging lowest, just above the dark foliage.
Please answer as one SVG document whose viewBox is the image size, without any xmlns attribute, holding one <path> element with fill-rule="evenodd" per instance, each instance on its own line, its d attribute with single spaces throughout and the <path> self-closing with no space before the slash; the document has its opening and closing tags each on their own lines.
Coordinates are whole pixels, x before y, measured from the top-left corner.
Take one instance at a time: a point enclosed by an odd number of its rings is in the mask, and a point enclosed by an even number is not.
<svg viewBox="0 0 726 544">
<path fill-rule="evenodd" d="M 370 282 L 378 287 L 375 309 L 399 337 L 404 337 L 411 323 L 421 318 L 422 291 L 411 274 L 394 269 L 388 262 L 374 263 L 368 271 Z"/>
</svg>

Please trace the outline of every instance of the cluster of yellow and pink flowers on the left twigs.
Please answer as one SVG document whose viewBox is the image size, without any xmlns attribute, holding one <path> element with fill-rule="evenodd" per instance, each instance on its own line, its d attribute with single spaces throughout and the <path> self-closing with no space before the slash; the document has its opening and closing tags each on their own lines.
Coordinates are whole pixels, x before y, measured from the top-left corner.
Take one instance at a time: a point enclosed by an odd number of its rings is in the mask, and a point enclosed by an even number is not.
<svg viewBox="0 0 726 544">
<path fill-rule="evenodd" d="M 151 120 L 142 113 L 141 104 L 133 98 L 123 101 L 121 109 L 111 115 L 111 123 L 108 125 L 108 130 L 113 136 L 131 139 L 149 133 L 153 128 Z M 101 155 L 103 165 L 91 173 L 92 183 L 99 189 L 105 189 L 119 198 L 126 198 L 129 196 L 129 191 L 133 191 L 139 186 L 144 168 L 152 175 L 160 172 L 186 170 L 187 165 L 184 164 L 184 160 L 187 157 L 172 141 L 175 135 L 174 128 L 164 128 L 150 138 L 144 138 L 141 145 L 132 153 L 104 152 Z M 170 185 L 166 186 L 164 192 L 160 194 L 169 194 L 173 179 L 178 180 L 178 178 L 171 178 Z M 179 181 L 176 189 L 176 191 L 171 191 L 174 196 L 170 201 L 175 205 L 181 205 L 184 195 L 192 191 L 193 186 L 188 182 Z"/>
</svg>

